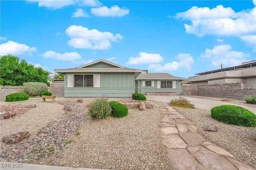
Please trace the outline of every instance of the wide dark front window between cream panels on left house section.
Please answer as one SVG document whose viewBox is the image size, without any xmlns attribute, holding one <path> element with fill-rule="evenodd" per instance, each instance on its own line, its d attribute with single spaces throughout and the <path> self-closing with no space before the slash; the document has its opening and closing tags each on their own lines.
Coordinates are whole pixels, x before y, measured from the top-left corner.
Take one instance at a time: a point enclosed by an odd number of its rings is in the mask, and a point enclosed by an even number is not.
<svg viewBox="0 0 256 170">
<path fill-rule="evenodd" d="M 74 87 L 93 87 L 93 75 L 74 75 Z"/>
</svg>

